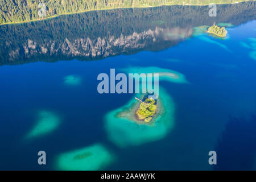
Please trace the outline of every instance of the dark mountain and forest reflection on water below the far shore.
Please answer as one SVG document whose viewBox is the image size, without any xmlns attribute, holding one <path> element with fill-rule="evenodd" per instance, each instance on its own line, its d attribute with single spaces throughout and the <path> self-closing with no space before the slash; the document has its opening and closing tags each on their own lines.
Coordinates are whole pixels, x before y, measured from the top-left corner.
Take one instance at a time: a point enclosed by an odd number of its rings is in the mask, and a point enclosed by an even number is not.
<svg viewBox="0 0 256 182">
<path fill-rule="evenodd" d="M 108 56 L 158 51 L 192 36 L 193 27 L 234 26 L 255 19 L 255 1 L 208 6 L 162 6 L 62 15 L 39 22 L 0 26 L 0 65 L 33 61 L 97 60 Z"/>
</svg>

